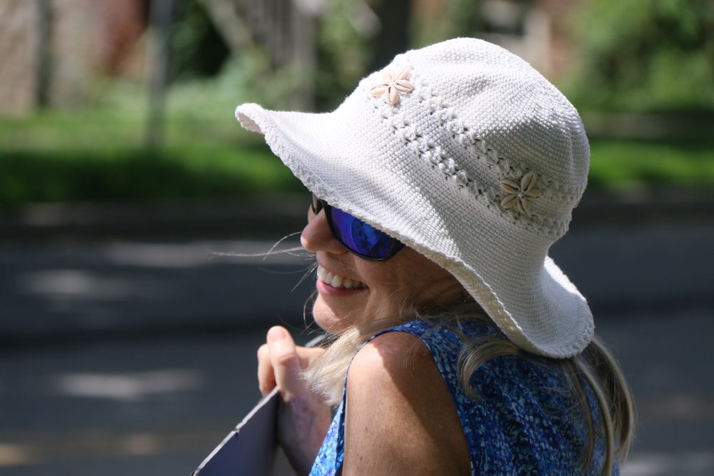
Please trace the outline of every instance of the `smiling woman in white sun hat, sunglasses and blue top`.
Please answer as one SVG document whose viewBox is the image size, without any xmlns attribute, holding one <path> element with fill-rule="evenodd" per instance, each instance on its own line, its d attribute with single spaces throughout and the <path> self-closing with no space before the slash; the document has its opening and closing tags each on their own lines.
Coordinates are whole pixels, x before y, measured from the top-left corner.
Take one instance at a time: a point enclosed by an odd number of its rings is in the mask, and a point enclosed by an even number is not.
<svg viewBox="0 0 714 476">
<path fill-rule="evenodd" d="M 278 327 L 258 351 L 298 474 L 618 474 L 628 389 L 548 257 L 589 161 L 555 87 L 453 39 L 396 56 L 331 113 L 236 116 L 313 193 L 301 243 L 331 343 Z"/>
</svg>

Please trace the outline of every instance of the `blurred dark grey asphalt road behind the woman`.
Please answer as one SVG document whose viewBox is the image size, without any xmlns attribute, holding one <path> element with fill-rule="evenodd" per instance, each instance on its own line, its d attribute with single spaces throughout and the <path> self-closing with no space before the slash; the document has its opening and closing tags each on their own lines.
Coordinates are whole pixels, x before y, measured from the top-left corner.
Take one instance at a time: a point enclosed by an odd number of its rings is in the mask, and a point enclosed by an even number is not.
<svg viewBox="0 0 714 476">
<path fill-rule="evenodd" d="M 258 400 L 267 328 L 310 338 L 311 260 L 248 256 L 274 241 L 0 241 L 0 475 L 188 476 Z M 714 475 L 713 248 L 714 218 L 553 247 L 635 394 L 625 476 Z"/>
</svg>

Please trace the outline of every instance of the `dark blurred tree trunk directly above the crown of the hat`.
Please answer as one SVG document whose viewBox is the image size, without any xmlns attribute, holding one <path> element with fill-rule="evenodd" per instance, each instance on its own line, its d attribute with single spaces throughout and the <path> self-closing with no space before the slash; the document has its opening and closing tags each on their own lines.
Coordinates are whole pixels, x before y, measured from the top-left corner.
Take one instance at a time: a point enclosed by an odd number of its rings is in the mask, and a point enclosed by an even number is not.
<svg viewBox="0 0 714 476">
<path fill-rule="evenodd" d="M 381 29 L 374 39 L 368 71 L 383 68 L 396 54 L 410 46 L 411 0 L 376 0 L 373 9 L 379 17 Z"/>
</svg>

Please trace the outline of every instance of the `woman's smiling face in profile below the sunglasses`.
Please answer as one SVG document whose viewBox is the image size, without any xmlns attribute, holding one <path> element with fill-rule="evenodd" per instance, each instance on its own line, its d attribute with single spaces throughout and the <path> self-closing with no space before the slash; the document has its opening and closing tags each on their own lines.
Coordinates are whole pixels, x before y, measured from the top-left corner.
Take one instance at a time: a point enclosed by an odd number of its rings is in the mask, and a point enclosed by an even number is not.
<svg viewBox="0 0 714 476">
<path fill-rule="evenodd" d="M 353 255 L 332 236 L 324 211 L 309 211 L 301 243 L 316 253 L 318 297 L 313 315 L 329 333 L 463 300 L 456 278 L 411 248 L 386 261 Z"/>
</svg>

